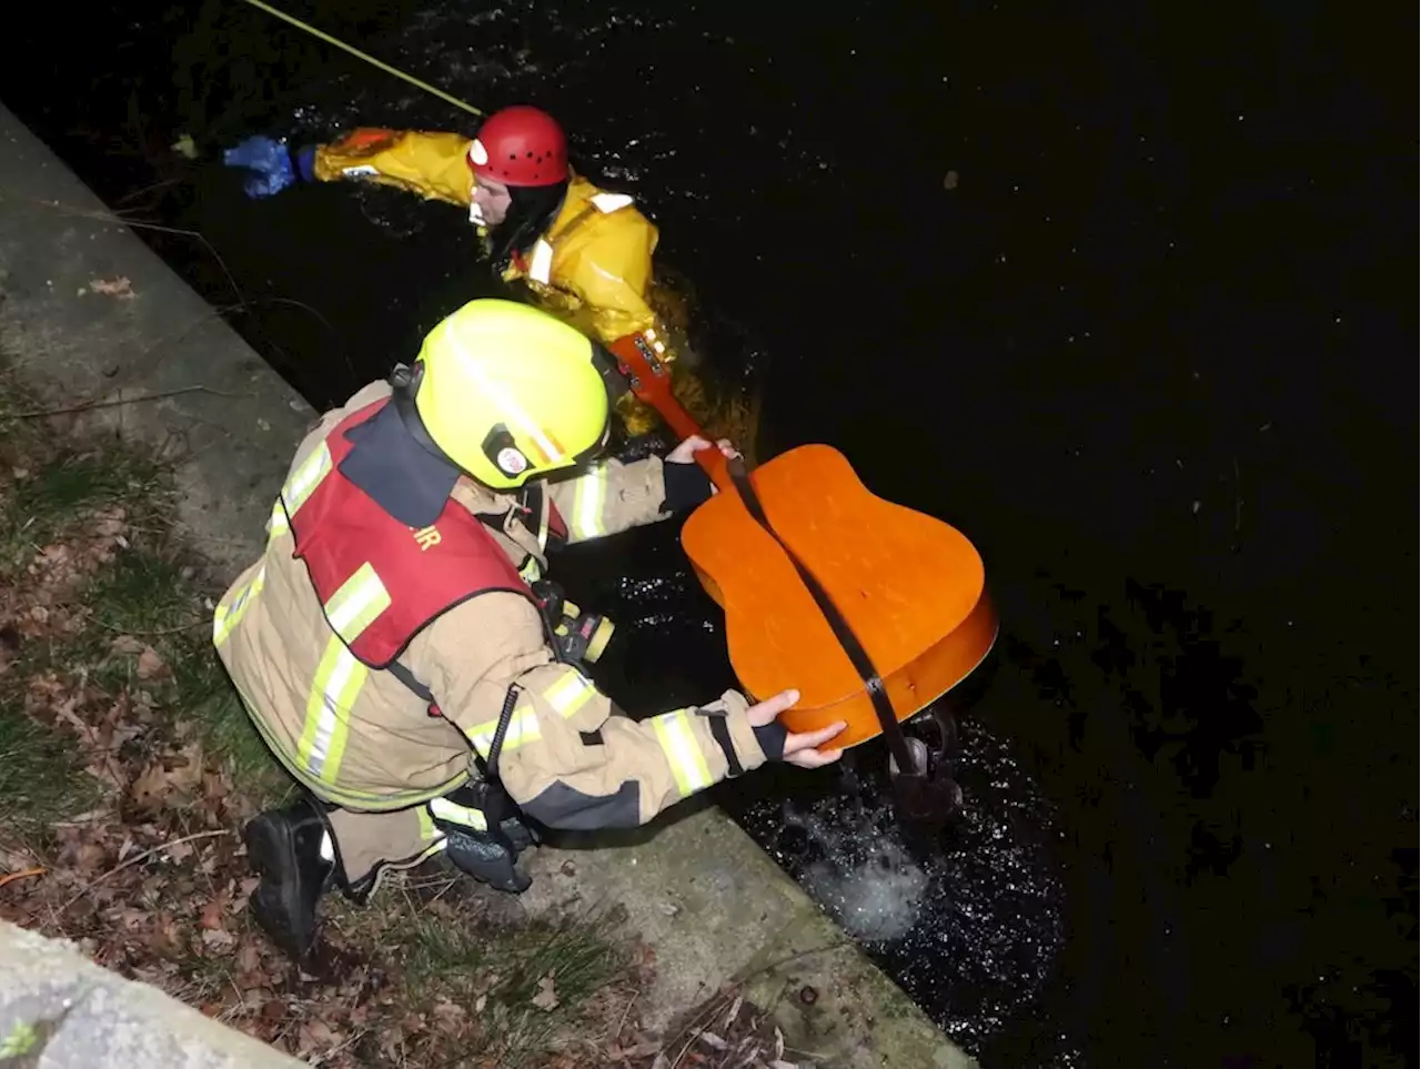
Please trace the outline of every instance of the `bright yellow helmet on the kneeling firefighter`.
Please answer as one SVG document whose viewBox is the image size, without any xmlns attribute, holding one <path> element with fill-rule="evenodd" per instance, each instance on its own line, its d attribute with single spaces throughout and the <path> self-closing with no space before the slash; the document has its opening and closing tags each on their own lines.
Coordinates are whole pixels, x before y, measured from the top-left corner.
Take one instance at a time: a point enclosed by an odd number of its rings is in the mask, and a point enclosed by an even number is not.
<svg viewBox="0 0 1421 1069">
<path fill-rule="evenodd" d="M 493 489 L 571 468 L 607 442 L 593 341 L 539 308 L 469 301 L 429 331 L 415 368 L 429 438 Z"/>
</svg>

